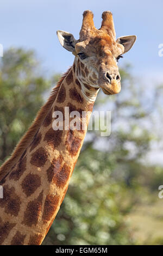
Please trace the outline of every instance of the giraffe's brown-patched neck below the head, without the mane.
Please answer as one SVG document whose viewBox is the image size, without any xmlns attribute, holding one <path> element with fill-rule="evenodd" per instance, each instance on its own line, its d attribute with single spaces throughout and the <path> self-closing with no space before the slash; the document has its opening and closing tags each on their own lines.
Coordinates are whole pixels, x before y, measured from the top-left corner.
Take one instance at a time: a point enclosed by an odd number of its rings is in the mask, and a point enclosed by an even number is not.
<svg viewBox="0 0 163 256">
<path fill-rule="evenodd" d="M 86 94 L 89 84 L 77 75 L 78 67 L 75 60 L 32 143 L 2 182 L 0 244 L 40 245 L 65 197 L 86 134 L 70 129 L 71 115 L 65 124 L 65 109 L 68 114 L 78 111 L 77 123 L 87 127 L 97 95 L 97 89 Z M 53 129 L 56 111 L 63 116 L 62 130 Z"/>
</svg>

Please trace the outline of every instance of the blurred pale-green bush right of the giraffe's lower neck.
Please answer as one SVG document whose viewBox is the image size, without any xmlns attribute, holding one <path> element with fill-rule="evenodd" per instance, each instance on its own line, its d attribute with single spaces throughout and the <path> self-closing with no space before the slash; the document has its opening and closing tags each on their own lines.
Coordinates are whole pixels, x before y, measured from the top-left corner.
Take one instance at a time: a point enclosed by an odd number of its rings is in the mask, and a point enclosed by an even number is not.
<svg viewBox="0 0 163 256">
<path fill-rule="evenodd" d="M 124 186 L 111 178 L 115 159 L 87 148 L 44 244 L 123 245 L 132 243 L 120 202 Z M 121 198 L 121 199 L 120 199 Z"/>
</svg>

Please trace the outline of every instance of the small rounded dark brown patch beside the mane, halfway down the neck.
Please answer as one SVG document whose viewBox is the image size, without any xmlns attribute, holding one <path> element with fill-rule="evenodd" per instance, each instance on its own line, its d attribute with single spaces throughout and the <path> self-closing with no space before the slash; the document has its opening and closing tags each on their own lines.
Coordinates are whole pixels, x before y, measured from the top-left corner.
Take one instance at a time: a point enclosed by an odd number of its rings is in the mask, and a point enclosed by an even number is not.
<svg viewBox="0 0 163 256">
<path fill-rule="evenodd" d="M 30 163 L 33 164 L 33 166 L 42 167 L 46 163 L 47 158 L 46 150 L 41 147 L 32 154 Z"/>
</svg>

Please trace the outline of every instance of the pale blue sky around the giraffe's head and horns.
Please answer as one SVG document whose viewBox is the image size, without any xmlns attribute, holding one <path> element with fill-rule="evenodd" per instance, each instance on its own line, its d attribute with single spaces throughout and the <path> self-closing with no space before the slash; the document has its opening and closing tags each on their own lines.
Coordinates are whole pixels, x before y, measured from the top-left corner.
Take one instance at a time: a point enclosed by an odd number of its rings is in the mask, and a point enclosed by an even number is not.
<svg viewBox="0 0 163 256">
<path fill-rule="evenodd" d="M 64 72 L 73 63 L 73 55 L 61 47 L 56 31 L 71 32 L 76 39 L 84 10 L 94 13 L 95 26 L 101 26 L 102 12 L 111 10 L 118 36 L 135 34 L 133 49 L 121 59 L 130 62 L 133 73 L 147 81 L 163 81 L 163 57 L 158 46 L 163 44 L 162 0 L 3 0 L 0 9 L 0 43 L 32 48 L 47 72 Z"/>
</svg>

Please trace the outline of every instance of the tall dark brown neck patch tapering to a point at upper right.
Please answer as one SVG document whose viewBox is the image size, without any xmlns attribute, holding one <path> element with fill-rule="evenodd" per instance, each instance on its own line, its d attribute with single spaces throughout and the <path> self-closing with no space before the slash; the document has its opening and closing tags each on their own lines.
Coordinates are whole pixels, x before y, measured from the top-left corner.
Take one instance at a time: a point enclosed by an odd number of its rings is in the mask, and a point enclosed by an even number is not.
<svg viewBox="0 0 163 256">
<path fill-rule="evenodd" d="M 42 198 L 43 190 L 36 199 L 28 203 L 26 211 L 24 212 L 23 224 L 27 225 L 28 227 L 37 224 L 41 214 Z"/>
</svg>

